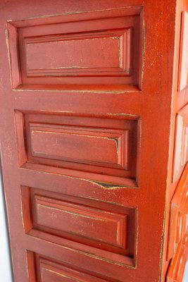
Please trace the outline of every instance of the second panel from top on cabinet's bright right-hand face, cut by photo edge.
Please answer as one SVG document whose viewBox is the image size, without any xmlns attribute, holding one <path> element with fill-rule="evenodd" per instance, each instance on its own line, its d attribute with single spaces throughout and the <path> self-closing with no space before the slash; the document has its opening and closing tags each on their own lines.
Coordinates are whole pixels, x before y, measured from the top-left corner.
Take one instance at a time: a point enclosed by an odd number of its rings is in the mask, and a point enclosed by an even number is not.
<svg viewBox="0 0 188 282">
<path fill-rule="evenodd" d="M 180 178 L 188 160 L 188 105 L 178 111 L 175 125 L 173 182 Z"/>
</svg>

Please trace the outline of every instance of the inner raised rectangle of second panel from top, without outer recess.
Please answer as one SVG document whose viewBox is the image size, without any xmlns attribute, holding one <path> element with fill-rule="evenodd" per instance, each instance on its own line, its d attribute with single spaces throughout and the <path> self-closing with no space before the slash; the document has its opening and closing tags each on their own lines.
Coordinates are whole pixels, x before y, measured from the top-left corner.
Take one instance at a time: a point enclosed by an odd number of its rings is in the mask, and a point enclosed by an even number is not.
<svg viewBox="0 0 188 282">
<path fill-rule="evenodd" d="M 32 155 L 127 168 L 129 130 L 30 123 Z"/>
</svg>

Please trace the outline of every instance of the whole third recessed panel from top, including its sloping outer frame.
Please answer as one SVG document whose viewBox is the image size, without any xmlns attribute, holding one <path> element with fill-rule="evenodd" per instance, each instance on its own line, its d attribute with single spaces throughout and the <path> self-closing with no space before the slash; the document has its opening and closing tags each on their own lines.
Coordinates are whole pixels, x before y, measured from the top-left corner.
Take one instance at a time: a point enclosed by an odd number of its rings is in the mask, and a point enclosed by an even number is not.
<svg viewBox="0 0 188 282">
<path fill-rule="evenodd" d="M 136 208 L 25 186 L 21 195 L 27 235 L 134 265 Z"/>
</svg>

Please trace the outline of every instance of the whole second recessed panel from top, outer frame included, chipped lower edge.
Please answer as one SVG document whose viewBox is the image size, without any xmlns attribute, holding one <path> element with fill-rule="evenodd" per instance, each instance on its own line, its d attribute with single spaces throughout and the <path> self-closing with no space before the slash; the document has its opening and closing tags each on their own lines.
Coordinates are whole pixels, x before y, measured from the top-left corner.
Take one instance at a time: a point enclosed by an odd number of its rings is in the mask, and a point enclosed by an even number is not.
<svg viewBox="0 0 188 282">
<path fill-rule="evenodd" d="M 15 123 L 20 166 L 58 166 L 100 183 L 136 178 L 137 120 L 16 111 Z"/>
</svg>

